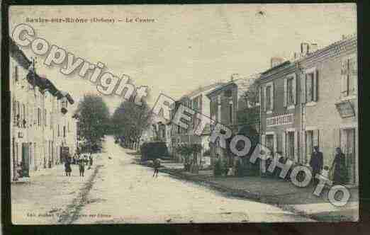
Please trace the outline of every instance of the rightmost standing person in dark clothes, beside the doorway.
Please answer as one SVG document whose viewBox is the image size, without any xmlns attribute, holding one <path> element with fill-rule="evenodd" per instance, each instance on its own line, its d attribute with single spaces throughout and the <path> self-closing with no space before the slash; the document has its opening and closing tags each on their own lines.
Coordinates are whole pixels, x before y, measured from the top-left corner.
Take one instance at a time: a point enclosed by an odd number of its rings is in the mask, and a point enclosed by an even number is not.
<svg viewBox="0 0 370 235">
<path fill-rule="evenodd" d="M 335 185 L 347 183 L 346 159 L 340 147 L 335 149 L 335 158 L 334 161 L 332 161 L 331 170 L 332 169 L 334 169 L 333 181 Z"/>
</svg>

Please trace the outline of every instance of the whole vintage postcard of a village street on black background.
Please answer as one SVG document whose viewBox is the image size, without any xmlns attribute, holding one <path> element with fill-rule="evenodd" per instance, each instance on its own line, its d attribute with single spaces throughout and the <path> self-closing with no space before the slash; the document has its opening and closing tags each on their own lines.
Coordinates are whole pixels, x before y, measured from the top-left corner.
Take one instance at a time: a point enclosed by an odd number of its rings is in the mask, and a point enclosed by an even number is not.
<svg viewBox="0 0 370 235">
<path fill-rule="evenodd" d="M 10 6 L 11 222 L 358 221 L 357 57 L 356 4 Z"/>
</svg>

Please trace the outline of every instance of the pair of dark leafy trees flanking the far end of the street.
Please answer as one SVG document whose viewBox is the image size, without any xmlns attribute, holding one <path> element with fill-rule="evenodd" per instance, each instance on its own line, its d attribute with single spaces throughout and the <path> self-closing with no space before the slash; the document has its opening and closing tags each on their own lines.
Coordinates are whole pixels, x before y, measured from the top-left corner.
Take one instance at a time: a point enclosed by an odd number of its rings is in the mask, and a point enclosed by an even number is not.
<svg viewBox="0 0 370 235">
<path fill-rule="evenodd" d="M 125 146 L 140 147 L 142 132 L 150 125 L 151 115 L 147 103 L 136 105 L 123 101 L 109 115 L 108 106 L 101 96 L 85 95 L 79 102 L 75 116 L 78 122 L 80 150 L 99 151 L 104 135 L 112 134 Z"/>
</svg>

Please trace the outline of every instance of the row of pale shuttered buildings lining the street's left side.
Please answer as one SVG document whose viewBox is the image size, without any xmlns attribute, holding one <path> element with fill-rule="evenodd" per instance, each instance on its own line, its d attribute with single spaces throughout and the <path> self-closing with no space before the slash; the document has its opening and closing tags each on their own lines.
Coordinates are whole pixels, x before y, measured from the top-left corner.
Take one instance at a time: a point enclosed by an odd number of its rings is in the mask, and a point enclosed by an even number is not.
<svg viewBox="0 0 370 235">
<path fill-rule="evenodd" d="M 60 162 L 60 147 L 67 147 L 69 154 L 74 154 L 77 130 L 76 120 L 67 109 L 74 103 L 69 93 L 39 76 L 34 63 L 12 40 L 9 48 L 11 180 L 16 181 L 55 166 Z M 60 139 L 58 123 L 65 130 Z"/>
</svg>

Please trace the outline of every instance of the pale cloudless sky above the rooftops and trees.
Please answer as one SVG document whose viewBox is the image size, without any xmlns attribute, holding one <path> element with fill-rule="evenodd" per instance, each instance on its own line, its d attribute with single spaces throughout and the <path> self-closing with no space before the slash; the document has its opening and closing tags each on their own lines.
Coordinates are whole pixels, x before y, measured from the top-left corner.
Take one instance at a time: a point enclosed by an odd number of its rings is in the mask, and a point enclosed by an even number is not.
<svg viewBox="0 0 370 235">
<path fill-rule="evenodd" d="M 357 33 L 355 4 L 212 4 L 126 6 L 11 6 L 10 30 L 26 18 L 106 18 L 115 23 L 27 23 L 37 37 L 63 47 L 106 71 L 127 74 L 135 86 L 148 86 L 147 102 L 159 93 L 174 99 L 231 74 L 248 76 L 270 67 L 271 57 L 289 59 L 301 42 L 324 47 Z M 152 23 L 126 23 L 150 18 Z M 118 22 L 118 19 L 122 21 Z M 11 35 L 11 33 L 9 33 Z M 28 57 L 36 55 L 21 47 Z M 65 76 L 37 56 L 37 71 L 75 101 L 86 93 L 101 95 L 96 84 Z M 104 96 L 108 108 L 123 102 Z M 77 105 L 75 105 L 77 106 Z"/>
</svg>

